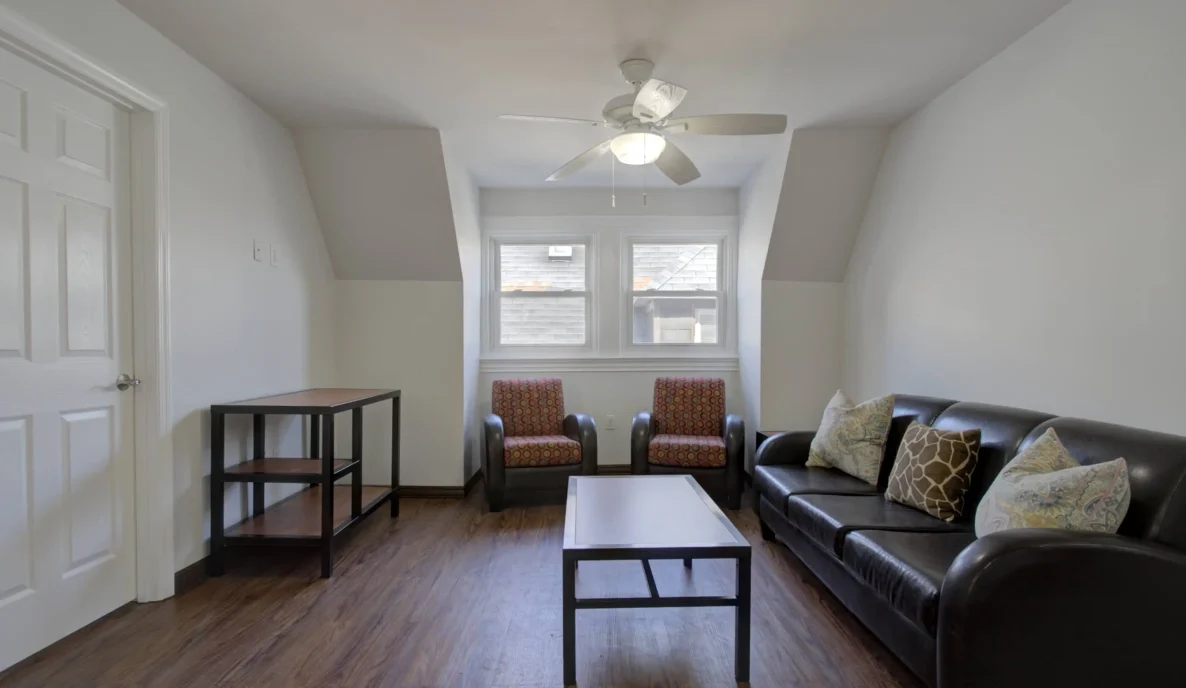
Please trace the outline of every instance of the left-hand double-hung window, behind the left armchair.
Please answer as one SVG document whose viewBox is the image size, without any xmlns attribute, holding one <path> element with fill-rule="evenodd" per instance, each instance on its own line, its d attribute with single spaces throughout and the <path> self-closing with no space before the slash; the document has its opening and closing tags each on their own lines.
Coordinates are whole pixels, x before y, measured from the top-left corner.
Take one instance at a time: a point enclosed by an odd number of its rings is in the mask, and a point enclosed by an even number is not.
<svg viewBox="0 0 1186 688">
<path fill-rule="evenodd" d="M 492 349 L 589 346 L 589 240 L 493 240 L 489 336 Z"/>
</svg>

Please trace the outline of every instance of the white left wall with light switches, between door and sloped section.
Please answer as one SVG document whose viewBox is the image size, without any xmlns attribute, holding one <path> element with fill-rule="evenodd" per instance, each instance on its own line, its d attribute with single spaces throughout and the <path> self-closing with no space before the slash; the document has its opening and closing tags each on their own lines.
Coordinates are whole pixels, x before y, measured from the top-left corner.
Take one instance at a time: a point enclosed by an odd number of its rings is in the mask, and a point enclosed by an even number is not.
<svg viewBox="0 0 1186 688">
<path fill-rule="evenodd" d="M 174 560 L 205 555 L 211 403 L 332 383 L 333 274 L 287 129 L 114 0 L 4 4 L 168 102 Z M 251 259 L 253 238 L 281 265 Z M 250 451 L 228 422 L 227 460 Z M 268 448 L 301 452 L 269 423 Z M 274 485 L 269 498 L 283 489 Z M 244 514 L 228 491 L 227 522 Z"/>
</svg>

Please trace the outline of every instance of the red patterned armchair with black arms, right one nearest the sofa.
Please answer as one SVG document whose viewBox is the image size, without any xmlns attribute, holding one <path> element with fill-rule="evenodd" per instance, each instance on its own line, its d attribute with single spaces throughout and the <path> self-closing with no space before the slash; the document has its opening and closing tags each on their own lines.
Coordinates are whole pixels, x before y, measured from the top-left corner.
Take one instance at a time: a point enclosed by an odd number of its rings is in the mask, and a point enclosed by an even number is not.
<svg viewBox="0 0 1186 688">
<path fill-rule="evenodd" d="M 725 381 L 659 377 L 655 412 L 635 415 L 630 472 L 688 473 L 729 509 L 741 507 L 745 423 L 725 414 Z"/>
</svg>

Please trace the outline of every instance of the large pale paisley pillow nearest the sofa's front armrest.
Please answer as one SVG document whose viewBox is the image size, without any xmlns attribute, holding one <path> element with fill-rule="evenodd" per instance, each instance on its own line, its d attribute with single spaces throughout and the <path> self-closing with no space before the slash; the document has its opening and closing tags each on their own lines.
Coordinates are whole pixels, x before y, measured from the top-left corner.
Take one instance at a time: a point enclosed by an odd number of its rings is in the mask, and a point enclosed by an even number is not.
<svg viewBox="0 0 1186 688">
<path fill-rule="evenodd" d="M 996 477 L 976 509 L 976 536 L 1012 528 L 1116 533 L 1129 502 L 1128 465 L 1079 465 L 1047 429 Z"/>
</svg>

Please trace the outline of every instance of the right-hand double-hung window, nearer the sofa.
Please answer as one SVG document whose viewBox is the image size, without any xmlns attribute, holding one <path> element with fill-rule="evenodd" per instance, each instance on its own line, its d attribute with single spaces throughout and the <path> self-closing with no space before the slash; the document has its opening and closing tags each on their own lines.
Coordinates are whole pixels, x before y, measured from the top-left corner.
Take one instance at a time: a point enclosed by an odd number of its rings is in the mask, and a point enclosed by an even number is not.
<svg viewBox="0 0 1186 688">
<path fill-rule="evenodd" d="M 725 344 L 723 238 L 629 240 L 626 332 L 652 350 Z"/>
</svg>

